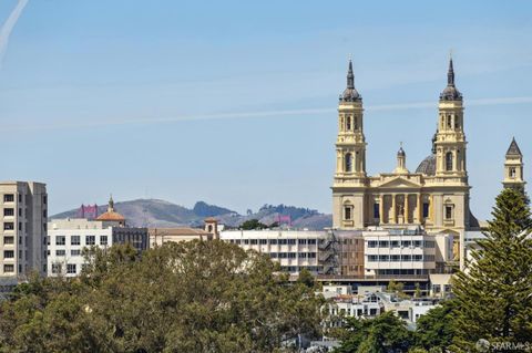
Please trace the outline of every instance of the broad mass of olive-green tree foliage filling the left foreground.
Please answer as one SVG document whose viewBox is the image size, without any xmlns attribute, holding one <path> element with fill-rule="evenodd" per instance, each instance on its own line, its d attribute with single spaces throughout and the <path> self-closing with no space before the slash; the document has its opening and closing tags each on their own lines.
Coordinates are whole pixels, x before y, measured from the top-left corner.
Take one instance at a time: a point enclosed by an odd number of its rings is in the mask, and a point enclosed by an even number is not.
<svg viewBox="0 0 532 353">
<path fill-rule="evenodd" d="M 79 279 L 33 278 L 0 303 L 0 352 L 273 352 L 316 335 L 323 301 L 222 241 L 86 253 Z"/>
</svg>

